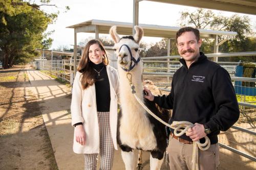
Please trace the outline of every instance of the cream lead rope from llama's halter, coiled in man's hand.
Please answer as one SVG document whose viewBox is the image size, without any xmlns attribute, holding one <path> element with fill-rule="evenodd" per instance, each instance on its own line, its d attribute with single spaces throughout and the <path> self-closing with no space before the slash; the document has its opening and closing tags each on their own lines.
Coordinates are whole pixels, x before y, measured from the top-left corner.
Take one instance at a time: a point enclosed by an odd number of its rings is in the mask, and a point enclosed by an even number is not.
<svg viewBox="0 0 256 170">
<path fill-rule="evenodd" d="M 194 124 L 190 123 L 190 122 L 186 122 L 186 121 L 181 121 L 181 122 L 177 122 L 174 121 L 172 123 L 172 125 L 169 125 L 167 123 L 165 123 L 161 118 L 159 118 L 158 116 L 156 116 L 150 109 L 148 109 L 144 103 L 138 98 L 138 96 L 136 95 L 136 91 L 135 91 L 135 86 L 132 82 L 132 74 L 130 72 L 127 72 L 126 74 L 127 79 L 129 80 L 131 89 L 132 89 L 132 93 L 135 96 L 135 99 L 139 102 L 139 104 L 148 112 L 150 113 L 150 115 L 152 115 L 155 119 L 157 119 L 159 122 L 161 122 L 162 124 L 164 124 L 165 126 L 174 129 L 174 135 L 175 136 L 181 136 L 184 133 L 186 133 L 187 129 L 191 128 L 194 126 Z M 179 133 L 178 133 L 179 131 Z M 193 154 L 192 154 L 192 169 L 193 170 L 198 170 L 199 169 L 199 165 L 198 165 L 198 148 L 202 151 L 206 151 L 207 149 L 209 149 L 210 147 L 210 139 L 208 138 L 208 136 L 205 136 L 205 142 L 204 143 L 200 143 L 200 141 L 193 141 Z"/>
</svg>

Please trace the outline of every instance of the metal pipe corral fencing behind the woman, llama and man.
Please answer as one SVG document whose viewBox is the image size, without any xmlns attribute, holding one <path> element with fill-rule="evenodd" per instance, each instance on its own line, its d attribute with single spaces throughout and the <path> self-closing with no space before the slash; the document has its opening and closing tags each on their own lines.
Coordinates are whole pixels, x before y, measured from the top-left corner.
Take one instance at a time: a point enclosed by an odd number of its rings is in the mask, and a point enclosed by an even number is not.
<svg viewBox="0 0 256 170">
<path fill-rule="evenodd" d="M 207 57 L 256 56 L 256 52 L 208 54 Z M 163 93 L 170 91 L 172 77 L 181 64 L 180 56 L 142 58 L 143 79 L 153 81 Z M 113 62 L 113 61 L 112 61 Z M 225 68 L 237 92 L 240 107 L 238 122 L 219 135 L 221 169 L 256 168 L 256 86 L 255 78 L 234 77 L 238 62 L 218 62 Z M 37 60 L 31 63 L 36 69 L 73 83 L 73 60 Z M 248 90 L 249 88 L 249 90 Z"/>
</svg>

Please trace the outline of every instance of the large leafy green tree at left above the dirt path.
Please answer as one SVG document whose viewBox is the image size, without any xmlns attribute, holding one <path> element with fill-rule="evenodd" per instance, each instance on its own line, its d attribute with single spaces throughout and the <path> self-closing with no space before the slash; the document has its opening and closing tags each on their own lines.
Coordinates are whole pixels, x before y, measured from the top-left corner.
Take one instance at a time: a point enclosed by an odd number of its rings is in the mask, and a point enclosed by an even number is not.
<svg viewBox="0 0 256 170">
<path fill-rule="evenodd" d="M 41 1 L 50 3 L 50 1 Z M 35 48 L 49 47 L 51 32 L 44 33 L 47 26 L 57 18 L 57 13 L 46 13 L 42 5 L 30 1 L 0 0 L 0 48 L 3 67 L 27 61 L 37 55 Z"/>
</svg>

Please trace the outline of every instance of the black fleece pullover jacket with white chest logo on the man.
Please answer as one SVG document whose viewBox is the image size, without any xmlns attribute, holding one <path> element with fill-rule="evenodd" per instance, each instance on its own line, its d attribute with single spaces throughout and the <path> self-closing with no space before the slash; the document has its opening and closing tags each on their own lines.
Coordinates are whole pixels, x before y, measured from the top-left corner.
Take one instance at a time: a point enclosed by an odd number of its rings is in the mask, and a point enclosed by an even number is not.
<svg viewBox="0 0 256 170">
<path fill-rule="evenodd" d="M 228 130 L 239 118 L 239 107 L 228 72 L 219 64 L 200 57 L 189 69 L 185 60 L 172 81 L 168 95 L 155 96 L 154 102 L 165 109 L 173 109 L 169 124 L 173 121 L 199 123 L 210 128 L 207 136 L 211 144 L 218 142 L 220 131 Z M 173 129 L 170 129 L 174 132 Z M 185 134 L 182 139 L 192 141 Z M 204 138 L 200 139 L 204 142 Z"/>
</svg>

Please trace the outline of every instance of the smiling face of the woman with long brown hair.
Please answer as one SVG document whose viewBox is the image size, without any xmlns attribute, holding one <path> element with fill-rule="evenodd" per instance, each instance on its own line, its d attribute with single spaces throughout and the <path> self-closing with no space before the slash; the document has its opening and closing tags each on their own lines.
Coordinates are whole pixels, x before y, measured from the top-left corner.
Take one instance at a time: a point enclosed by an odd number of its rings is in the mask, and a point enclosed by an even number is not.
<svg viewBox="0 0 256 170">
<path fill-rule="evenodd" d="M 89 47 L 89 59 L 94 63 L 94 64 L 99 64 L 102 62 L 102 57 L 105 54 L 104 51 L 101 50 L 99 45 L 97 43 L 92 44 Z"/>
</svg>

